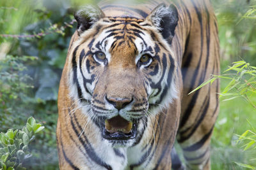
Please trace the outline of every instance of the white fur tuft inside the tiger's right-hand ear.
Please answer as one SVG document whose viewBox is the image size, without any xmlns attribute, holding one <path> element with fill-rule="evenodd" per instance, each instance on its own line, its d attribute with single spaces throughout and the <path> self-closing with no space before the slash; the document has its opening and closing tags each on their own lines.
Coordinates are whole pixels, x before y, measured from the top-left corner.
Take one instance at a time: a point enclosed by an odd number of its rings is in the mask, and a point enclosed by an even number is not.
<svg viewBox="0 0 256 170">
<path fill-rule="evenodd" d="M 161 21 L 163 20 L 163 17 L 171 15 L 172 11 L 170 11 L 169 7 L 161 4 L 152 11 L 152 13 L 147 17 L 147 20 L 152 22 L 152 24 L 154 24 L 159 30 L 162 30 Z"/>
</svg>

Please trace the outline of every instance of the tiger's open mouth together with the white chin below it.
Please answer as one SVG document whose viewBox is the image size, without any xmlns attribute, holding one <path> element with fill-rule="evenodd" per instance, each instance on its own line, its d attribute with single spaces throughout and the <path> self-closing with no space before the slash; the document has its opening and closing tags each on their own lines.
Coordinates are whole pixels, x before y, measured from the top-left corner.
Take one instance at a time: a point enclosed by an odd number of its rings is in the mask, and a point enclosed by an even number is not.
<svg viewBox="0 0 256 170">
<path fill-rule="evenodd" d="M 105 120 L 102 137 L 108 140 L 113 147 L 129 147 L 137 136 L 138 122 L 128 121 L 120 116 Z"/>
</svg>

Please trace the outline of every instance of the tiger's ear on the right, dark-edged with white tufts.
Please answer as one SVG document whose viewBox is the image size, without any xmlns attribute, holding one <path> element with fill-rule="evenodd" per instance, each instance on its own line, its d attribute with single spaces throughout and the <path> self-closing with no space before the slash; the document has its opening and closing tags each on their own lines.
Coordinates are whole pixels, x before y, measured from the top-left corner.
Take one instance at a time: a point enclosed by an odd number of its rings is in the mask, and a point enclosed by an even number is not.
<svg viewBox="0 0 256 170">
<path fill-rule="evenodd" d="M 166 7 L 165 4 L 159 4 L 150 15 L 148 15 L 146 20 L 152 22 L 152 24 L 157 27 L 164 39 L 172 39 L 179 16 L 177 8 L 173 4 L 168 7 Z"/>
</svg>

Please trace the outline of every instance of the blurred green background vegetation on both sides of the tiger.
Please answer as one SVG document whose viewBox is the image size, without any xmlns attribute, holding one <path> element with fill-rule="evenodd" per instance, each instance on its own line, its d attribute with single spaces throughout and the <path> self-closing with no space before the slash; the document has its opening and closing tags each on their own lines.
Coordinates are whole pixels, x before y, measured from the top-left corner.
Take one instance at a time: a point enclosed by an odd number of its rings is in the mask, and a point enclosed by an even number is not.
<svg viewBox="0 0 256 170">
<path fill-rule="evenodd" d="M 0 1 L 0 131 L 21 128 L 30 116 L 45 126 L 30 147 L 33 157 L 25 162 L 28 169 L 58 169 L 58 84 L 76 28 L 73 7 L 88 3 L 97 1 Z M 241 59 L 256 66 L 256 17 L 243 17 L 249 10 L 250 16 L 256 16 L 256 1 L 212 4 L 219 24 L 221 70 Z M 221 89 L 227 83 L 221 81 Z M 250 99 L 256 103 L 255 95 Z M 234 162 L 256 166 L 256 151 L 243 152 L 236 145 L 236 134 L 252 129 L 247 120 L 256 127 L 256 110 L 243 98 L 221 101 L 212 137 L 212 169 L 244 169 Z"/>
</svg>

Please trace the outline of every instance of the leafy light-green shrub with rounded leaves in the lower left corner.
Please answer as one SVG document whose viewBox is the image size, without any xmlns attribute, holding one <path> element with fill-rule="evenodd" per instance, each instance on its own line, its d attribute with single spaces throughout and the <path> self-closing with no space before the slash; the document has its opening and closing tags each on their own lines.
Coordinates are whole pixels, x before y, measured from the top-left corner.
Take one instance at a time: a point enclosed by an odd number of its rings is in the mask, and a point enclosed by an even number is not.
<svg viewBox="0 0 256 170">
<path fill-rule="evenodd" d="M 26 126 L 22 130 L 8 129 L 6 133 L 0 133 L 0 170 L 22 170 L 25 159 L 31 157 L 28 145 L 35 139 L 35 134 L 42 131 L 44 126 L 36 124 L 33 117 L 28 118 Z"/>
</svg>

